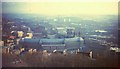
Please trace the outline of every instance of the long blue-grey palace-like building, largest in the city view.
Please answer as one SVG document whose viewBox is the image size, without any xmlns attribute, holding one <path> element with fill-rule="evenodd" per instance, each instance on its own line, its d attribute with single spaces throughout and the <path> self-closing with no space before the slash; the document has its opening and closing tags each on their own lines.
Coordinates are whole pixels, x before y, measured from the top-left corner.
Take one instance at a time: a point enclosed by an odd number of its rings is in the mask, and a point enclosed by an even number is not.
<svg viewBox="0 0 120 69">
<path fill-rule="evenodd" d="M 34 48 L 37 50 L 48 50 L 48 51 L 63 51 L 67 50 L 77 50 L 83 44 L 83 39 L 81 37 L 75 38 L 43 38 L 43 39 L 22 39 L 19 44 L 24 48 Z"/>
</svg>

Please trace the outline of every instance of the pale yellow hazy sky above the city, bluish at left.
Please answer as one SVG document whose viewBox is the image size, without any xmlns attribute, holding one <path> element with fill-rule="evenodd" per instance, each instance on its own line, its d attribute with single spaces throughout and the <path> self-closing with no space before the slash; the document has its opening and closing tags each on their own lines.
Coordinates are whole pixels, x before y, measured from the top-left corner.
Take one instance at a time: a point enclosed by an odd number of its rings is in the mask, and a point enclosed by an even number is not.
<svg viewBox="0 0 120 69">
<path fill-rule="evenodd" d="M 3 2 L 3 13 L 44 15 L 114 15 L 117 2 Z"/>
</svg>

